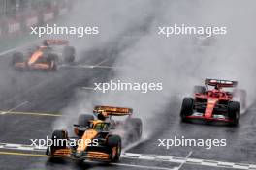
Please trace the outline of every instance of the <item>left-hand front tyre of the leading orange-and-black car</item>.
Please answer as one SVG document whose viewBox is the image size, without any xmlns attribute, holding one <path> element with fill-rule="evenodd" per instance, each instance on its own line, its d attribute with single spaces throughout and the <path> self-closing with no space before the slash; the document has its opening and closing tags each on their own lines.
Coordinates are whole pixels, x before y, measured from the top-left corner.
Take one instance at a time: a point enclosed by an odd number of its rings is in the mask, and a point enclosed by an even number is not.
<svg viewBox="0 0 256 170">
<path fill-rule="evenodd" d="M 65 130 L 54 130 L 51 136 L 53 144 L 48 146 L 47 148 L 47 155 L 51 156 L 58 149 L 65 149 L 67 148 L 67 140 L 68 139 L 68 132 Z M 59 140 L 62 140 L 61 143 Z M 59 146 L 61 144 L 61 146 Z"/>
</svg>

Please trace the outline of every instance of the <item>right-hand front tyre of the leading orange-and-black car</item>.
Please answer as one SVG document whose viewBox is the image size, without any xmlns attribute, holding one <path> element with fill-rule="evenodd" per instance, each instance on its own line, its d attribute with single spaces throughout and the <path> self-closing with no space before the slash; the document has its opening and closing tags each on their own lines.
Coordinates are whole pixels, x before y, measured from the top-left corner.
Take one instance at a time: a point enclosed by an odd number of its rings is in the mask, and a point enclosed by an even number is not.
<svg viewBox="0 0 256 170">
<path fill-rule="evenodd" d="M 118 135 L 112 135 L 107 139 L 107 145 L 110 147 L 110 156 L 112 157 L 112 162 L 117 162 L 120 160 L 122 151 L 122 141 L 121 137 Z"/>
</svg>

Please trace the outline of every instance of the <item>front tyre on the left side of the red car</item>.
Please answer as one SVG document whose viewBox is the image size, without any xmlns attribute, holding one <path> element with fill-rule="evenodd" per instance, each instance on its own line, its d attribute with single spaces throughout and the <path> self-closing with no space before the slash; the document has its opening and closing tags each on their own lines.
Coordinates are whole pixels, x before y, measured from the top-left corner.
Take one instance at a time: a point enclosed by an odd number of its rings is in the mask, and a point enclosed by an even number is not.
<svg viewBox="0 0 256 170">
<path fill-rule="evenodd" d="M 187 122 L 187 116 L 191 116 L 194 112 L 194 99 L 184 98 L 181 106 L 180 117 L 182 122 Z"/>
</svg>

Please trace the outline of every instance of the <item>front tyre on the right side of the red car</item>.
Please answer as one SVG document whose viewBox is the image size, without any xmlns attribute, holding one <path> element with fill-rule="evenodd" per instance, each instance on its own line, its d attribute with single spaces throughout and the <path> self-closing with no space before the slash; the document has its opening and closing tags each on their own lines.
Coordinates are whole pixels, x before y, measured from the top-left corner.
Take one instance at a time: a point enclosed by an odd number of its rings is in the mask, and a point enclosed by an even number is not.
<svg viewBox="0 0 256 170">
<path fill-rule="evenodd" d="M 238 101 L 230 101 L 228 104 L 228 117 L 232 121 L 230 126 L 237 127 L 240 121 L 240 103 Z"/>
</svg>

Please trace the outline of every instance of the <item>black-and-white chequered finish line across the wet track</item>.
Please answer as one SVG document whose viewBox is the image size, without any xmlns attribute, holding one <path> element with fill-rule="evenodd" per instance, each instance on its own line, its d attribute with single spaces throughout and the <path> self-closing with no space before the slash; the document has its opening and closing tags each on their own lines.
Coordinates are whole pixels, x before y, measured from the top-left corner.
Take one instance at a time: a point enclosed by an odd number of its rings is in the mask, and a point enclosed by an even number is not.
<svg viewBox="0 0 256 170">
<path fill-rule="evenodd" d="M 0 143 L 0 149 L 20 150 L 20 151 L 39 151 L 39 152 L 46 151 L 46 147 L 37 147 L 37 146 L 31 146 L 31 145 L 10 144 L 10 143 Z M 183 163 L 183 164 L 217 167 L 217 168 L 256 170 L 256 164 L 217 161 L 217 160 L 200 159 L 200 158 L 189 158 L 189 156 L 191 155 L 192 155 L 192 152 L 190 152 L 189 155 L 186 157 L 123 153 L 121 157 L 128 158 L 128 159 L 136 159 L 139 161 L 147 160 L 147 161 L 158 161 L 158 162 L 169 162 L 169 163 Z"/>
</svg>

